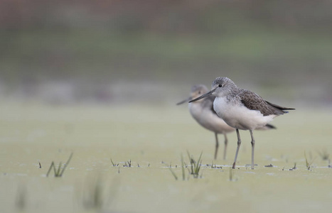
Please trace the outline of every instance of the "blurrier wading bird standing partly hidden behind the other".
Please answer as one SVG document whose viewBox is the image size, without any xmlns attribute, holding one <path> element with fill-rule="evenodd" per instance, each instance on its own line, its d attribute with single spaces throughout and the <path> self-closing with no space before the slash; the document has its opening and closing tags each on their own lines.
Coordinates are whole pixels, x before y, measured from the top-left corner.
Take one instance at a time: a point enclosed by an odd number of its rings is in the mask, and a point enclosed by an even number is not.
<svg viewBox="0 0 332 213">
<path fill-rule="evenodd" d="M 183 104 L 185 102 L 191 101 L 192 99 L 196 99 L 201 94 L 208 92 L 208 87 L 205 87 L 203 84 L 197 84 L 191 87 L 190 97 L 182 102 L 178 102 L 176 105 Z M 215 97 L 210 96 L 206 99 L 202 99 L 198 102 L 189 103 L 189 111 L 191 112 L 191 116 L 200 124 L 210 131 L 215 133 L 215 159 L 217 159 L 218 154 L 218 133 L 221 133 L 225 136 L 225 149 L 223 159 L 226 159 L 226 148 L 227 148 L 227 133 L 235 131 L 234 128 L 228 126 L 223 119 L 215 113 L 213 110 L 213 101 Z"/>
</svg>

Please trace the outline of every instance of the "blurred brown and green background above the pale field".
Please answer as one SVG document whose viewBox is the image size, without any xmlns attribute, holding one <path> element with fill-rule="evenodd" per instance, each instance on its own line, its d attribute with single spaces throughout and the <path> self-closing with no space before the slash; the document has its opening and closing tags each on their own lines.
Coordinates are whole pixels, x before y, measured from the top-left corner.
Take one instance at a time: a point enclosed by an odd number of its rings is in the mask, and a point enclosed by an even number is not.
<svg viewBox="0 0 332 213">
<path fill-rule="evenodd" d="M 0 99 L 175 104 L 227 76 L 332 104 L 332 1 L 0 1 Z"/>
</svg>

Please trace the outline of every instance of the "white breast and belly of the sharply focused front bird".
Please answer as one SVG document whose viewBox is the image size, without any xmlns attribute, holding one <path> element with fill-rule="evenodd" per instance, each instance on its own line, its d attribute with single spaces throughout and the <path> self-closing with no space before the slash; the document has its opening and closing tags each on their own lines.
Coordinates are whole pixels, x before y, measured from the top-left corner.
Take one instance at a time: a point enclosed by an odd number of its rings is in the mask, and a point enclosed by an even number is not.
<svg viewBox="0 0 332 213">
<path fill-rule="evenodd" d="M 247 109 L 243 104 L 227 102 L 225 97 L 216 97 L 213 109 L 228 125 L 242 130 L 254 130 L 265 126 L 277 116 L 263 116 L 260 111 Z"/>
</svg>

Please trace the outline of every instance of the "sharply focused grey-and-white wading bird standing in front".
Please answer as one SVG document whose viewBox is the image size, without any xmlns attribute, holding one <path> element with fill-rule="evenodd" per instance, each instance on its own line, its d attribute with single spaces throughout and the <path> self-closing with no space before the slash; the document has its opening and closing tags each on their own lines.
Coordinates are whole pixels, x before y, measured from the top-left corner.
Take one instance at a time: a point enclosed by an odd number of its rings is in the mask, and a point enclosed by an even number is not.
<svg viewBox="0 0 332 213">
<path fill-rule="evenodd" d="M 280 107 L 276 104 L 265 101 L 255 92 L 247 89 L 240 89 L 232 80 L 227 77 L 217 77 L 212 84 L 212 89 L 200 97 L 191 100 L 196 102 L 205 97 L 215 97 L 213 109 L 226 124 L 236 129 L 237 149 L 232 168 L 235 168 L 237 154 L 239 153 L 241 138 L 239 129 L 249 130 L 252 138 L 252 169 L 254 169 L 255 138 L 252 131 L 262 128 L 272 121 L 276 116 L 288 113 L 284 110 L 293 108 Z"/>
</svg>

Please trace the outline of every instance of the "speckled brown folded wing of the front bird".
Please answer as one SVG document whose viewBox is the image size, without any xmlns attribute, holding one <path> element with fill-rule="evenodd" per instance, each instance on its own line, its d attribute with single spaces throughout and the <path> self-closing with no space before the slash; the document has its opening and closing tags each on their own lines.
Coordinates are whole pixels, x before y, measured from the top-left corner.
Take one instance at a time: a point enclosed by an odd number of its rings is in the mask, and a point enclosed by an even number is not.
<svg viewBox="0 0 332 213">
<path fill-rule="evenodd" d="M 245 107 L 252 110 L 259 110 L 263 116 L 286 113 L 286 111 L 282 111 L 282 109 L 277 108 L 277 105 L 266 102 L 264 99 L 262 99 L 262 97 L 260 97 L 255 92 L 251 92 L 250 90 L 243 89 L 242 92 L 238 94 L 238 96 L 240 97 L 241 102 L 245 105 Z"/>
</svg>

